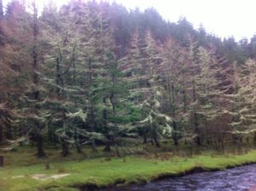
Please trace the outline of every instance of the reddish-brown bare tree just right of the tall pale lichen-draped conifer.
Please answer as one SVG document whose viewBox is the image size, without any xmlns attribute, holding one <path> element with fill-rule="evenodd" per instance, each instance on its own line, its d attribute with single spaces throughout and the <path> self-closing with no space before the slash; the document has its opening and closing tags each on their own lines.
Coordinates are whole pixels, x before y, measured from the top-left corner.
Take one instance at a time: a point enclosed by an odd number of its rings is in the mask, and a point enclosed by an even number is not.
<svg viewBox="0 0 256 191">
<path fill-rule="evenodd" d="M 172 40 L 166 42 L 164 56 L 164 67 L 161 69 L 165 87 L 164 109 L 172 117 L 172 139 L 177 145 L 178 137 L 184 136 L 186 140 L 187 136 L 185 121 L 189 112 L 189 65 L 185 51 Z"/>
</svg>

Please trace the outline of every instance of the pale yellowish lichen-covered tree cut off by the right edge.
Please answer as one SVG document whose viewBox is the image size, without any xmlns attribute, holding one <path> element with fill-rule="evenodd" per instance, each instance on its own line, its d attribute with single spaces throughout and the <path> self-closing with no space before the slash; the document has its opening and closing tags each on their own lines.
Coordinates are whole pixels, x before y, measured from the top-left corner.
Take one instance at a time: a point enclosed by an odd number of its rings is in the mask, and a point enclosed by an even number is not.
<svg viewBox="0 0 256 191">
<path fill-rule="evenodd" d="M 255 142 L 255 62 L 247 60 L 245 65 L 236 67 L 235 79 L 236 91 L 230 95 L 234 118 L 231 124 L 234 128 L 234 141 L 236 142 L 237 137 L 242 139 L 253 134 L 253 142 Z"/>
</svg>

